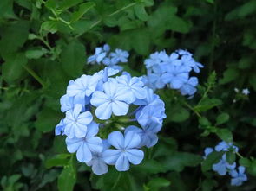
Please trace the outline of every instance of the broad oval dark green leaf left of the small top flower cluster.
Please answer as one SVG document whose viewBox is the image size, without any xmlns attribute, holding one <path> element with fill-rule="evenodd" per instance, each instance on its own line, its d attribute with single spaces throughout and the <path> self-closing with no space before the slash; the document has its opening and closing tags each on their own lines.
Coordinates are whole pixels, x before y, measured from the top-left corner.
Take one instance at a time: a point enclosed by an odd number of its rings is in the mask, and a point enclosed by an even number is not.
<svg viewBox="0 0 256 191">
<path fill-rule="evenodd" d="M 71 41 L 62 50 L 61 63 L 63 70 L 69 76 L 77 77 L 82 74 L 82 68 L 86 63 L 85 48 L 79 41 Z"/>
</svg>

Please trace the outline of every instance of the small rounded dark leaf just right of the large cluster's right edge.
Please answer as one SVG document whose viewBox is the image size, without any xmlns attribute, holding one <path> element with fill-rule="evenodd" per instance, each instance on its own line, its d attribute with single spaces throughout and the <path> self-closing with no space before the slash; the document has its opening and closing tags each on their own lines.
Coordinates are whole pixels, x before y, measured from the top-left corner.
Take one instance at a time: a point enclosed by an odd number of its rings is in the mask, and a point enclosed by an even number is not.
<svg viewBox="0 0 256 191">
<path fill-rule="evenodd" d="M 186 121 L 190 116 L 190 112 L 180 105 L 175 105 L 171 111 L 168 111 L 168 120 L 180 123 Z"/>
</svg>

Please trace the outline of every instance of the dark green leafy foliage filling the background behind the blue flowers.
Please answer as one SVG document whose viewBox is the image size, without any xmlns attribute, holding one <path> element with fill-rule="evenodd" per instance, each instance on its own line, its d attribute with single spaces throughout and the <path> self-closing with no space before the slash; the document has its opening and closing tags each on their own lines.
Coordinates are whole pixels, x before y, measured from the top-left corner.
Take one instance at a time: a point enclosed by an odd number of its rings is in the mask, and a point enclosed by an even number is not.
<svg viewBox="0 0 256 191">
<path fill-rule="evenodd" d="M 255 13 L 254 0 L 1 0 L 2 189 L 255 190 Z M 86 59 L 104 43 L 129 51 L 125 70 L 134 75 L 145 74 L 143 60 L 162 49 L 187 49 L 205 67 L 194 99 L 158 92 L 167 119 L 141 165 L 96 176 L 73 160 L 54 128 L 69 80 L 102 69 Z M 220 115 L 226 117 L 216 124 Z M 204 148 L 220 139 L 233 139 L 244 156 L 249 181 L 240 188 L 201 166 Z"/>
</svg>

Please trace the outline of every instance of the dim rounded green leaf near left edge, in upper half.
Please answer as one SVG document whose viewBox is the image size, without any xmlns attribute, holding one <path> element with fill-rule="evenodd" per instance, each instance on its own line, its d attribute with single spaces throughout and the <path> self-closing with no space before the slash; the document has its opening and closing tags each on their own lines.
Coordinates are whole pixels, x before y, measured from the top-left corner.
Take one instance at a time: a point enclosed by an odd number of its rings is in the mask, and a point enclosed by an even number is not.
<svg viewBox="0 0 256 191">
<path fill-rule="evenodd" d="M 5 60 L 2 67 L 3 80 L 8 83 L 18 80 L 23 73 L 23 65 L 28 61 L 25 55 L 22 53 L 10 54 Z"/>
</svg>

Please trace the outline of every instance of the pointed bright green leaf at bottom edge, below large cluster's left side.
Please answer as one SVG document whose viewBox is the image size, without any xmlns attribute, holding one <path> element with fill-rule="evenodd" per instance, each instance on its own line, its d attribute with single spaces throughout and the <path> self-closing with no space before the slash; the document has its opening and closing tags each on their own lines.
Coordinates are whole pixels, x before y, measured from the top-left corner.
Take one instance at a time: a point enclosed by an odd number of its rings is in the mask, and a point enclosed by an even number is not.
<svg viewBox="0 0 256 191">
<path fill-rule="evenodd" d="M 69 164 L 64 166 L 58 178 L 58 189 L 60 191 L 72 191 L 76 181 L 76 171 L 71 158 Z"/>
</svg>

